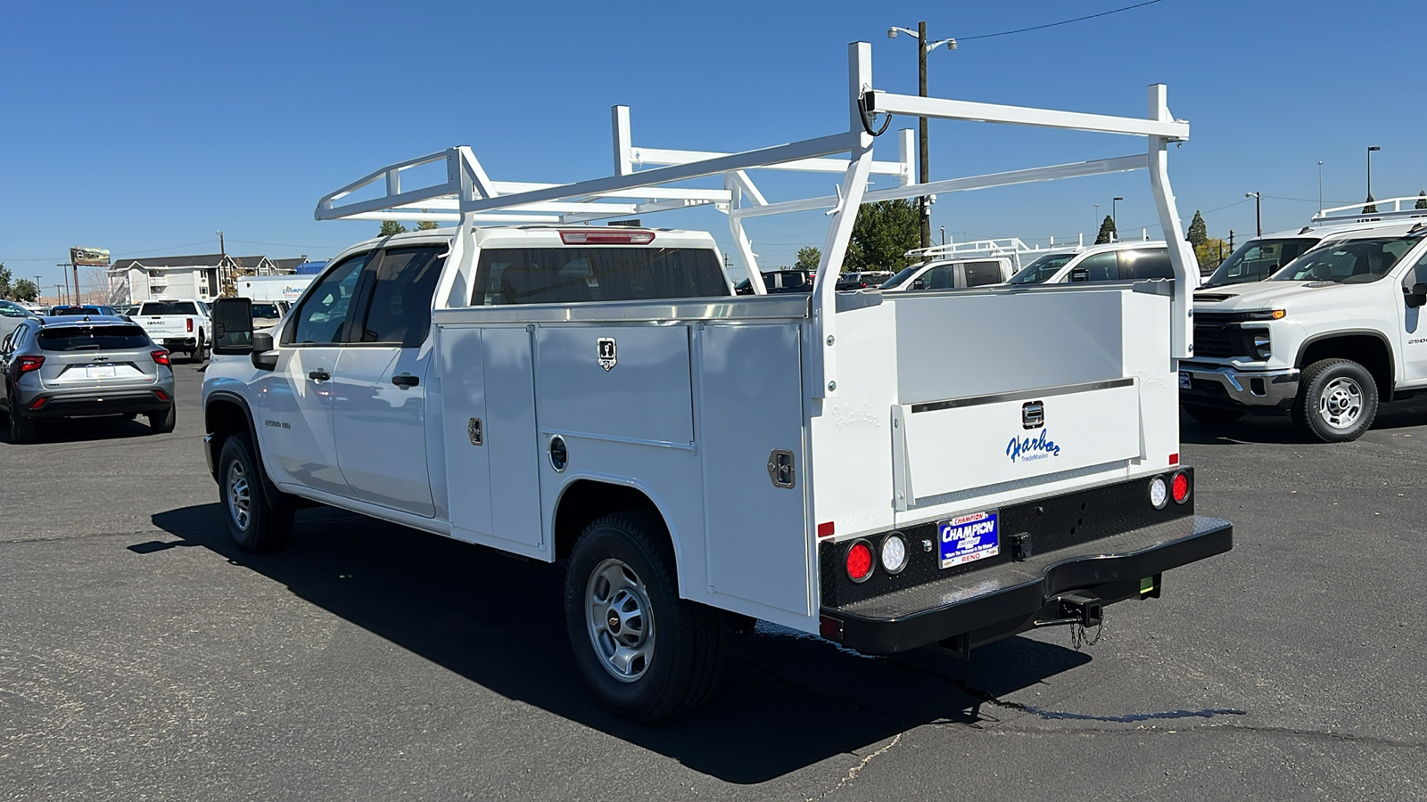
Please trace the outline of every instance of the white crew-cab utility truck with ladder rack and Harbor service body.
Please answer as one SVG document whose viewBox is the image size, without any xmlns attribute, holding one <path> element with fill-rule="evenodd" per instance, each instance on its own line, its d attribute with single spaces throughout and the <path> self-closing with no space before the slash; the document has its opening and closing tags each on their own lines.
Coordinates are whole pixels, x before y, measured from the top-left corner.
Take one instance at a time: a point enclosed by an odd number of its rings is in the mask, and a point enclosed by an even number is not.
<svg viewBox="0 0 1427 802">
<path fill-rule="evenodd" d="M 966 655 L 1096 625 L 1230 549 L 1227 521 L 1194 515 L 1179 454 L 1197 270 L 1166 166 L 1189 126 L 1164 87 L 1147 118 L 1107 117 L 889 94 L 870 64 L 849 46 L 849 124 L 819 138 L 644 148 L 615 107 L 605 178 L 494 180 L 457 147 L 324 197 L 320 220 L 454 228 L 348 248 L 273 334 L 251 331 L 247 300 L 218 301 L 205 454 L 238 547 L 277 548 L 294 507 L 321 502 L 568 561 L 579 671 L 636 721 L 706 698 L 722 639 L 751 619 Z M 913 184 L 908 137 L 899 161 L 873 158 L 888 114 L 1147 147 Z M 412 187 L 430 164 L 445 181 Z M 859 204 L 1136 168 L 1174 280 L 835 291 Z M 775 201 L 755 170 L 842 183 Z M 873 173 L 896 183 L 869 190 Z M 726 213 L 753 295 L 733 294 L 708 233 L 589 224 L 698 205 Z M 828 214 L 823 261 L 811 294 L 766 294 L 743 224 L 791 211 Z"/>
</svg>

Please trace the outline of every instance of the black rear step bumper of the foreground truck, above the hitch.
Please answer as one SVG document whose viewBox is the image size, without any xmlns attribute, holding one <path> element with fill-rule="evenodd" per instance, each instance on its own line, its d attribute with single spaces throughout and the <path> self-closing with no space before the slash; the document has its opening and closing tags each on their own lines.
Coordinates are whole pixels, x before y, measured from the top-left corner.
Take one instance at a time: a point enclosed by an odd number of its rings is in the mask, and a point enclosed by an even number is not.
<svg viewBox="0 0 1427 802">
<path fill-rule="evenodd" d="M 822 608 L 822 634 L 878 654 L 969 651 L 1053 624 L 1097 624 L 1104 605 L 1159 595 L 1159 575 L 1233 548 L 1233 524 L 1190 515 L 1079 548 L 1037 554 L 903 591 Z M 1143 579 L 1153 578 L 1150 589 Z"/>
</svg>

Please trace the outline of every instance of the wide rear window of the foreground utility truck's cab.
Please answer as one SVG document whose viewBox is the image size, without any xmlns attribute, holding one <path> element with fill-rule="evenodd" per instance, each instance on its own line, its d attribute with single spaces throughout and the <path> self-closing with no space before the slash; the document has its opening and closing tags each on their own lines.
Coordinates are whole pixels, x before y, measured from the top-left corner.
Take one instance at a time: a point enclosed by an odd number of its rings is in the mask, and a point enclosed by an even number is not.
<svg viewBox="0 0 1427 802">
<path fill-rule="evenodd" d="M 578 304 L 729 295 L 706 248 L 488 248 L 474 305 Z"/>
</svg>

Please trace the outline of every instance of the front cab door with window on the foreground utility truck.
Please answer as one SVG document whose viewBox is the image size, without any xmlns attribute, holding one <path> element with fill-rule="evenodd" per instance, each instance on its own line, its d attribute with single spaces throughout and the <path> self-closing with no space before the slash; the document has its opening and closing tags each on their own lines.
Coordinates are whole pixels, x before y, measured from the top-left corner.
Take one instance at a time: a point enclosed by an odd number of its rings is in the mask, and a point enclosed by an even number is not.
<svg viewBox="0 0 1427 802">
<path fill-rule="evenodd" d="M 277 368 L 258 380 L 258 438 L 278 484 L 351 494 L 337 467 L 331 380 L 370 257 L 342 260 L 317 281 L 284 327 Z"/>
</svg>

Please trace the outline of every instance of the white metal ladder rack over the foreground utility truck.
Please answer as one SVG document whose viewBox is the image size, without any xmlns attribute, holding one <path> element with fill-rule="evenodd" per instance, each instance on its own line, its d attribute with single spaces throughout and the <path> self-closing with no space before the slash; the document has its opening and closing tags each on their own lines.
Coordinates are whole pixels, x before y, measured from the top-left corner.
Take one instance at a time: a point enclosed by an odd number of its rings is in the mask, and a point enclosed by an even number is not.
<svg viewBox="0 0 1427 802">
<path fill-rule="evenodd" d="M 873 128 L 878 114 L 935 117 L 977 123 L 1036 126 L 1077 131 L 1146 137 L 1144 153 L 1053 164 L 1030 170 L 1015 170 L 987 176 L 970 176 L 916 184 L 912 164 L 912 131 L 902 131 L 898 161 L 873 160 L 873 143 L 880 131 Z M 485 223 L 548 223 L 578 224 L 611 217 L 649 214 L 674 208 L 714 204 L 728 213 L 735 247 L 748 268 L 749 283 L 756 294 L 763 294 L 752 244 L 743 233 L 743 220 L 793 211 L 825 210 L 831 217 L 823 238 L 822 260 L 813 284 L 811 314 L 816 330 L 815 342 L 822 344 L 821 357 L 812 360 L 813 398 L 836 395 L 836 274 L 846 255 L 856 211 L 863 203 L 913 198 L 926 194 L 959 193 L 1005 187 L 1032 181 L 1049 181 L 1079 176 L 1097 176 L 1127 170 L 1149 170 L 1150 187 L 1164 237 L 1174 265 L 1174 297 L 1170 342 L 1173 357 L 1193 355 L 1192 290 L 1196 284 L 1197 263 L 1179 221 L 1174 196 L 1170 190 L 1167 146 L 1189 138 L 1189 123 L 1174 120 L 1169 113 L 1164 84 L 1149 87 L 1149 116 L 1112 117 L 1076 111 L 1056 111 L 1017 106 L 996 106 L 938 97 L 918 97 L 873 88 L 872 46 L 855 41 L 848 46 L 848 130 L 743 153 L 709 153 L 689 150 L 635 147 L 629 133 L 629 110 L 614 107 L 615 174 L 572 184 L 541 184 L 528 181 L 494 181 L 469 147 L 452 147 L 441 153 L 412 158 L 384 167 L 354 181 L 318 201 L 318 220 L 438 220 L 458 223 L 458 234 L 448 258 L 461 265 L 458 273 L 469 275 L 472 268 L 474 227 Z M 885 130 L 885 124 L 882 128 Z M 831 158 L 836 154 L 848 157 Z M 424 164 L 447 166 L 447 180 L 441 184 L 407 190 L 402 173 Z M 639 170 L 639 167 L 646 167 Z M 836 196 L 771 203 L 749 177 L 749 170 L 796 170 L 809 173 L 842 173 Z M 870 174 L 899 178 L 899 186 L 868 190 Z M 671 187 L 692 178 L 719 176 L 722 188 Z M 367 187 L 385 183 L 385 194 L 370 200 L 347 200 Z M 454 275 L 454 274 L 452 274 Z M 448 288 L 442 288 L 445 291 Z"/>
</svg>

